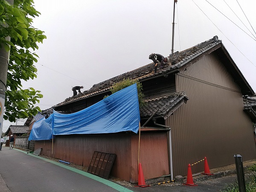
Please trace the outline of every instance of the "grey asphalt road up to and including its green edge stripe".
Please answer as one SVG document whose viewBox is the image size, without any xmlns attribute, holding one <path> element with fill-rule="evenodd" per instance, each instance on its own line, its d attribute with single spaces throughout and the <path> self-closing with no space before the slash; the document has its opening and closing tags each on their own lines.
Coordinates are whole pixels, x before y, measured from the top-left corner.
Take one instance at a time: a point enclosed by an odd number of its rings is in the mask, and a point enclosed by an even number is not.
<svg viewBox="0 0 256 192">
<path fill-rule="evenodd" d="M 50 160 L 37 157 L 20 150 L 2 148 L 0 151 L 0 175 L 11 192 L 131 191 L 86 172 L 81 172 L 85 174 L 81 175 L 80 170 L 70 168 L 62 163 L 53 161 L 50 163 Z"/>
</svg>

